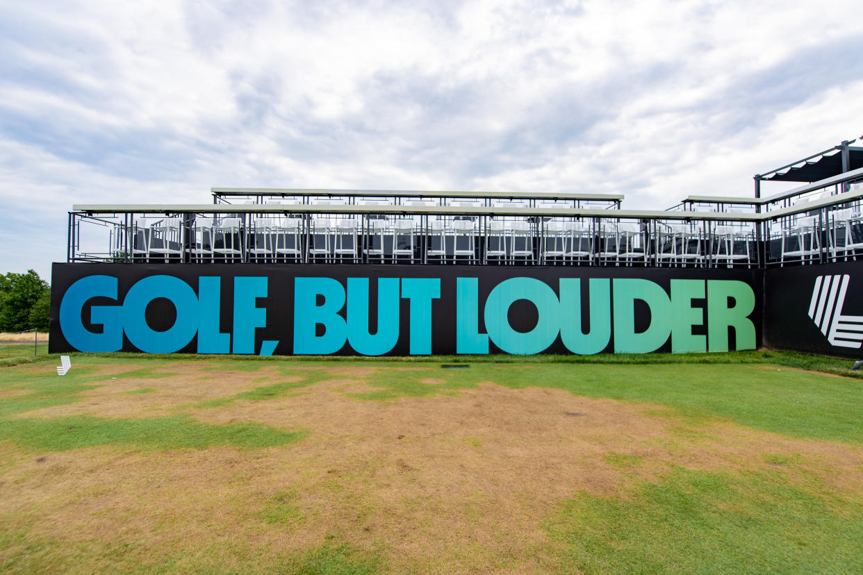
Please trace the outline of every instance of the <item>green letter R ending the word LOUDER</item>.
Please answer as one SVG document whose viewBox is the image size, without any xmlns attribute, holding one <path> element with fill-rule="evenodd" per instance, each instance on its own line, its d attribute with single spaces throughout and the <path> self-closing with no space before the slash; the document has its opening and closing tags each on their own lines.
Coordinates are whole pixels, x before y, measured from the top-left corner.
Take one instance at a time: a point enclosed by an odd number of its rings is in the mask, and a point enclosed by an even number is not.
<svg viewBox="0 0 863 575">
<path fill-rule="evenodd" d="M 734 305 L 728 307 L 728 297 Z M 736 279 L 707 281 L 707 341 L 711 352 L 728 351 L 728 327 L 734 328 L 734 349 L 755 349 L 755 326 L 749 314 L 755 309 L 752 287 Z"/>
</svg>

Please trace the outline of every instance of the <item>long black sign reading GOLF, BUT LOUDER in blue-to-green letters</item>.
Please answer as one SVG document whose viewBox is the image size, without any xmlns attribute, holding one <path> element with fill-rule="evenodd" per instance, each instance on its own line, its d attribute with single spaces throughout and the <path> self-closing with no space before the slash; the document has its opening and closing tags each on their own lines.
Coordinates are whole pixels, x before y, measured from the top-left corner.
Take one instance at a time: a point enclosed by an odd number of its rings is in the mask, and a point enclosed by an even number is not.
<svg viewBox="0 0 863 575">
<path fill-rule="evenodd" d="M 761 272 L 631 267 L 54 264 L 52 353 L 754 349 Z"/>
</svg>

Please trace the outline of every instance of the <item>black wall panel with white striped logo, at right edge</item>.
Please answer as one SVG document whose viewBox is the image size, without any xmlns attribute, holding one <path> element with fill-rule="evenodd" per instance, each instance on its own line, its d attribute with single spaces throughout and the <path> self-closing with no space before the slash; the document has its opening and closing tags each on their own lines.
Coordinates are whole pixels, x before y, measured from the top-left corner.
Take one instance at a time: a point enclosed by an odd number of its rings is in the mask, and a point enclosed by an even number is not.
<svg viewBox="0 0 863 575">
<path fill-rule="evenodd" d="M 765 345 L 863 357 L 863 262 L 765 272 Z"/>
</svg>

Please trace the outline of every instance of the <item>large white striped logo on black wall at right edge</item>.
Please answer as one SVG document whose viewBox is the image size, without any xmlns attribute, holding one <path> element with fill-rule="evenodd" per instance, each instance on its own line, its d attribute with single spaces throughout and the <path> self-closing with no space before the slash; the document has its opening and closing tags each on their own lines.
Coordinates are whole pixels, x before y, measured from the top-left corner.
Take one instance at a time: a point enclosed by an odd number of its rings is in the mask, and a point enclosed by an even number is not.
<svg viewBox="0 0 863 575">
<path fill-rule="evenodd" d="M 843 316 L 848 276 L 818 276 L 809 303 L 809 317 L 827 336 L 830 345 L 860 347 L 863 343 L 863 316 Z"/>
</svg>

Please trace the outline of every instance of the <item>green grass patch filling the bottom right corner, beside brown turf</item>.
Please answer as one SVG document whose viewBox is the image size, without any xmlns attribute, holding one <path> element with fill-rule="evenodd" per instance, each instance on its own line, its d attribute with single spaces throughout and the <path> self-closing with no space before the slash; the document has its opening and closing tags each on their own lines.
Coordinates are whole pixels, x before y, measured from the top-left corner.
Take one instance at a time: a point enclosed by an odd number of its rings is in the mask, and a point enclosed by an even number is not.
<svg viewBox="0 0 863 575">
<path fill-rule="evenodd" d="M 780 472 L 677 470 L 623 497 L 580 494 L 549 523 L 584 573 L 863 572 L 863 502 Z"/>
</svg>

